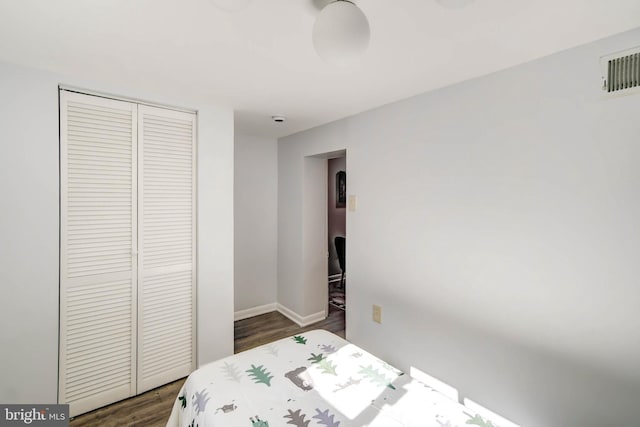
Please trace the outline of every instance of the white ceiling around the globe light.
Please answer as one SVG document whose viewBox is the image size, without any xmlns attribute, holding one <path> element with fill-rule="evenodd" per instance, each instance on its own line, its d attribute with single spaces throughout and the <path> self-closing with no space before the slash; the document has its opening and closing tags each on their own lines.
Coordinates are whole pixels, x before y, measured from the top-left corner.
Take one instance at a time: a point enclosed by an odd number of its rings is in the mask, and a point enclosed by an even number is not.
<svg viewBox="0 0 640 427">
<path fill-rule="evenodd" d="M 0 0 L 0 60 L 210 97 L 280 137 L 640 25 L 638 0 L 354 0 L 371 44 L 340 68 L 311 42 L 327 1 Z"/>
</svg>

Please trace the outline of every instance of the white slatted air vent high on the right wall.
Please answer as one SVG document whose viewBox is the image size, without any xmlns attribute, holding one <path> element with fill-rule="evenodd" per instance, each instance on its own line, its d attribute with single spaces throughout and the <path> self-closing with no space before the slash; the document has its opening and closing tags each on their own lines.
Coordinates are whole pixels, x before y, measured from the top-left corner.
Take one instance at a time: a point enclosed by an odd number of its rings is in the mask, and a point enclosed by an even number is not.
<svg viewBox="0 0 640 427">
<path fill-rule="evenodd" d="M 602 89 L 627 94 L 640 90 L 640 47 L 602 57 Z"/>
</svg>

